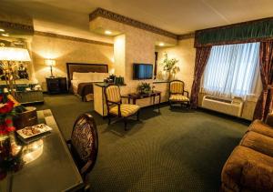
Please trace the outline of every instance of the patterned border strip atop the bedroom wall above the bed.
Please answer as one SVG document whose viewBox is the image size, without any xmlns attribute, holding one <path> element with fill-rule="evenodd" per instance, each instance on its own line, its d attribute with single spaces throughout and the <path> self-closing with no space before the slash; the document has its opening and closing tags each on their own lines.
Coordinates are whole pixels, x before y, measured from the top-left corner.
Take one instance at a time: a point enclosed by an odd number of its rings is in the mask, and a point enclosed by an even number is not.
<svg viewBox="0 0 273 192">
<path fill-rule="evenodd" d="M 71 41 L 76 41 L 76 42 L 83 42 L 83 43 L 87 43 L 87 44 L 114 46 L 114 44 L 110 44 L 110 43 L 104 43 L 104 42 L 100 42 L 100 41 L 95 41 L 95 40 L 90 40 L 90 39 L 85 39 L 85 38 L 80 38 L 80 37 L 75 37 L 75 36 L 58 35 L 58 34 L 53 34 L 53 33 L 48 33 L 48 32 L 42 32 L 42 31 L 35 31 L 35 35 L 48 36 L 48 37 L 53 37 L 53 38 L 61 38 L 61 39 L 66 39 L 66 40 L 71 40 Z"/>
</svg>

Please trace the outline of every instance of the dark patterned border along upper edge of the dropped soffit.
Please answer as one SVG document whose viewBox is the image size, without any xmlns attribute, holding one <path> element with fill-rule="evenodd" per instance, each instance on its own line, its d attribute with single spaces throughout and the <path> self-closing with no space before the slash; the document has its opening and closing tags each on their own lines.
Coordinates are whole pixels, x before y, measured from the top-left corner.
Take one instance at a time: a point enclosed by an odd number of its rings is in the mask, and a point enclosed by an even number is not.
<svg viewBox="0 0 273 192">
<path fill-rule="evenodd" d="M 158 34 L 158 35 L 165 35 L 167 37 L 177 39 L 176 34 L 173 34 L 171 32 L 168 32 L 166 30 L 163 30 L 163 29 L 158 28 L 158 27 L 153 26 L 153 25 L 148 25 L 148 24 L 139 22 L 139 21 L 137 21 L 135 19 L 126 17 L 124 15 L 116 14 L 114 12 L 108 11 L 108 10 L 100 8 L 100 7 L 97 8 L 91 14 L 89 14 L 89 21 L 92 21 L 92 20 L 96 19 L 96 17 L 98 17 L 98 16 L 101 16 L 101 17 L 104 17 L 106 19 L 110 19 L 110 20 L 113 20 L 113 21 L 116 21 L 116 22 L 119 22 L 119 23 L 122 23 L 122 24 L 135 26 L 136 28 L 144 29 L 144 30 L 147 30 L 149 32 L 152 32 L 152 33 L 155 33 L 155 34 Z"/>
</svg>

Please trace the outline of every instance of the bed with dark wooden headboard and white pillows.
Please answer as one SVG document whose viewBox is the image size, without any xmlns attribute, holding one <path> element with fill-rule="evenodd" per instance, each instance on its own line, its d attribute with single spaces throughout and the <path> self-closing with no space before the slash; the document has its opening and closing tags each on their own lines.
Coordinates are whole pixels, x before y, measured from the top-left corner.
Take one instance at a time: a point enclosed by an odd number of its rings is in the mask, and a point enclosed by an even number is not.
<svg viewBox="0 0 273 192">
<path fill-rule="evenodd" d="M 103 82 L 109 76 L 106 64 L 66 63 L 66 70 L 69 91 L 81 96 L 83 101 L 92 99 L 94 83 Z"/>
</svg>

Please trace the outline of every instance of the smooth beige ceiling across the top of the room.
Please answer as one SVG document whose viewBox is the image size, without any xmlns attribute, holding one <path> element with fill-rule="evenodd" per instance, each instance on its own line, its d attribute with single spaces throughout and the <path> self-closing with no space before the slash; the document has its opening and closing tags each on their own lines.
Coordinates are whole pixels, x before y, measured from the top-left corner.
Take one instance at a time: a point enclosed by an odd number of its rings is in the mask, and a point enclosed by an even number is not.
<svg viewBox="0 0 273 192">
<path fill-rule="evenodd" d="M 35 30 L 80 35 L 89 35 L 88 14 L 96 7 L 177 35 L 273 16 L 272 0 L 1 0 L 1 4 L 33 16 Z"/>
</svg>

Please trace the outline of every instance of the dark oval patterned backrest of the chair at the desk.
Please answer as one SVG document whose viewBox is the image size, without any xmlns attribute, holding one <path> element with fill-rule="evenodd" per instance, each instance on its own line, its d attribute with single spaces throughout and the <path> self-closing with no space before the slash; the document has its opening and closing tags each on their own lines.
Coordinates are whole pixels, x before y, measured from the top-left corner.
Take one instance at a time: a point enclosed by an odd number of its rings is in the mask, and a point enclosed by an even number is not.
<svg viewBox="0 0 273 192">
<path fill-rule="evenodd" d="M 93 116 L 78 116 L 71 136 L 71 153 L 82 177 L 85 178 L 95 166 L 97 151 L 98 137 Z"/>
</svg>

